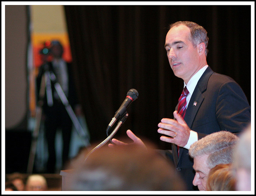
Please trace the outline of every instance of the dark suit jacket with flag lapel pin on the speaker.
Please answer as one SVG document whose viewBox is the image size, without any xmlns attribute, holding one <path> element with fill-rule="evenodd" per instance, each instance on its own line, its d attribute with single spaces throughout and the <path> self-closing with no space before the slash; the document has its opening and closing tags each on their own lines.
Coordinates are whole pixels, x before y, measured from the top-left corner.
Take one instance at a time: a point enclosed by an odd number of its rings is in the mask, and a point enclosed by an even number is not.
<svg viewBox="0 0 256 196">
<path fill-rule="evenodd" d="M 251 120 L 251 107 L 238 83 L 208 67 L 194 89 L 184 120 L 198 133 L 198 139 L 217 131 L 239 133 Z M 193 160 L 187 149 L 180 148 L 177 161 L 175 144 L 172 144 L 172 150 L 176 169 L 192 190 Z"/>
</svg>

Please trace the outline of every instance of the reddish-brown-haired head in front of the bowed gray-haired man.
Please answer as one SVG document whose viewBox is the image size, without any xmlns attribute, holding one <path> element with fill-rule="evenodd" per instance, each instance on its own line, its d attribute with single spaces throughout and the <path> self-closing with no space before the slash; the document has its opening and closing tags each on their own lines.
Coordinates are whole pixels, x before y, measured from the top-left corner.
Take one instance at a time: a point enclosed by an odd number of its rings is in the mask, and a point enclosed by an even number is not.
<svg viewBox="0 0 256 196">
<path fill-rule="evenodd" d="M 236 179 L 233 175 L 231 163 L 219 164 L 208 174 L 207 191 L 235 191 Z"/>
</svg>

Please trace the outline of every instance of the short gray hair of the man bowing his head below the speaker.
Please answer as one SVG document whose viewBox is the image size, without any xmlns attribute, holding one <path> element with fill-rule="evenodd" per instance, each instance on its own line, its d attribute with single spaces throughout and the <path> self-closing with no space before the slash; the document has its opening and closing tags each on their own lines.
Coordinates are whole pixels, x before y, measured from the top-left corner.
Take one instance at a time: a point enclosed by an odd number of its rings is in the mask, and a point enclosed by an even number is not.
<svg viewBox="0 0 256 196">
<path fill-rule="evenodd" d="M 228 131 L 219 131 L 194 142 L 188 151 L 189 155 L 209 155 L 207 165 L 211 169 L 219 164 L 228 164 L 233 161 L 233 151 L 239 138 Z"/>
</svg>

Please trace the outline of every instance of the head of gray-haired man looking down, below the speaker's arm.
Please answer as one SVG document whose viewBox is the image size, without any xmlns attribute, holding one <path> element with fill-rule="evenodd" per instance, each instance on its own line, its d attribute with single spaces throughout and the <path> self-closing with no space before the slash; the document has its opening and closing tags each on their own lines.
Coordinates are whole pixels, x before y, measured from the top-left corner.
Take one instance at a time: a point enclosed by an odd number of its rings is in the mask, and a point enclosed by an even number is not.
<svg viewBox="0 0 256 196">
<path fill-rule="evenodd" d="M 194 142 L 189 149 L 194 159 L 196 172 L 193 185 L 200 191 L 205 191 L 210 169 L 219 164 L 229 164 L 233 161 L 233 152 L 239 138 L 228 131 L 219 131 Z"/>
</svg>

